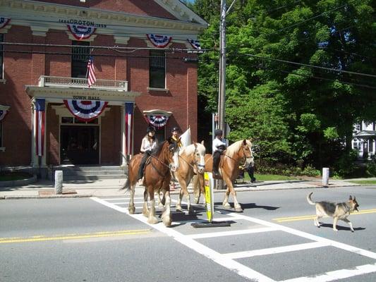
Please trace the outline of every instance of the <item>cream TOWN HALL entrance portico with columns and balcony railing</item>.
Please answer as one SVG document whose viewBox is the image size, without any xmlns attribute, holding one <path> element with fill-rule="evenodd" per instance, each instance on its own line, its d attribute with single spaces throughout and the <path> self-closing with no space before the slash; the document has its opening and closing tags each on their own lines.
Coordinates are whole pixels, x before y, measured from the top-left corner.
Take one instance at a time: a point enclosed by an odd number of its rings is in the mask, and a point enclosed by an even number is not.
<svg viewBox="0 0 376 282">
<path fill-rule="evenodd" d="M 44 128 L 47 128 L 49 121 L 47 120 L 47 105 L 49 103 L 61 104 L 54 106 L 58 109 L 56 114 L 68 113 L 68 109 L 63 109 L 63 100 L 83 100 L 83 101 L 102 101 L 108 102 L 108 106 L 121 107 L 121 152 L 122 166 L 126 165 L 126 154 L 129 155 L 129 150 L 126 152 L 126 102 L 134 104 L 135 97 L 140 96 L 139 92 L 128 91 L 128 82 L 119 80 L 97 80 L 95 85 L 90 88 L 87 87 L 86 78 L 66 78 L 42 75 L 39 79 L 38 85 L 26 85 L 25 90 L 30 97 L 32 97 L 32 158 L 31 166 L 35 168 L 47 168 L 46 147 L 44 146 L 42 152 L 37 154 L 37 129 L 38 125 L 35 123 L 37 115 L 36 101 L 37 99 L 44 99 Z M 107 111 L 107 110 L 104 110 Z M 46 134 L 44 134 L 44 144 L 46 144 Z M 133 142 L 132 142 L 133 143 Z"/>
</svg>

